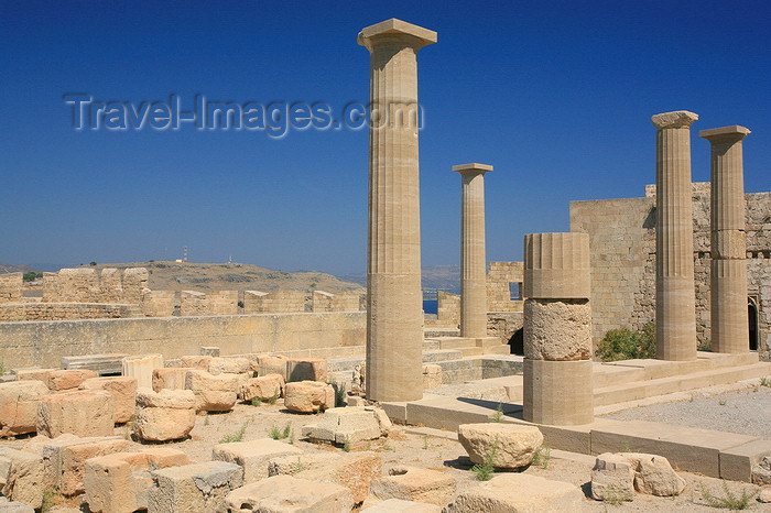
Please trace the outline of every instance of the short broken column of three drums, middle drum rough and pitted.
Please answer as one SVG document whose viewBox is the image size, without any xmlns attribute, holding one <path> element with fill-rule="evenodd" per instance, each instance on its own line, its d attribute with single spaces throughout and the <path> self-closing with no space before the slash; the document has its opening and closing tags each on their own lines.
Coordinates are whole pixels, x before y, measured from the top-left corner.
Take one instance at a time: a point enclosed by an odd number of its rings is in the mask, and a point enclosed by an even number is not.
<svg viewBox="0 0 771 513">
<path fill-rule="evenodd" d="M 524 236 L 524 419 L 594 421 L 588 233 Z"/>
</svg>

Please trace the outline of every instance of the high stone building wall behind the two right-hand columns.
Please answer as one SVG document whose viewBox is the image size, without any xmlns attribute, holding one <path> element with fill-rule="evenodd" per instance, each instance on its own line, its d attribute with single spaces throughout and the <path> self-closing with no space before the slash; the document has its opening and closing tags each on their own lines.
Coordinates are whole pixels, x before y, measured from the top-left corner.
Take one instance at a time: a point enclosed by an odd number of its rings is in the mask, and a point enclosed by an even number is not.
<svg viewBox="0 0 771 513">
<path fill-rule="evenodd" d="M 771 350 L 771 193 L 746 195 L 748 296 L 758 303 L 761 357 Z M 693 190 L 696 329 L 708 347 L 709 184 Z M 571 230 L 589 233 L 593 338 L 610 329 L 641 329 L 655 316 L 655 186 L 644 198 L 571 203 Z"/>
</svg>

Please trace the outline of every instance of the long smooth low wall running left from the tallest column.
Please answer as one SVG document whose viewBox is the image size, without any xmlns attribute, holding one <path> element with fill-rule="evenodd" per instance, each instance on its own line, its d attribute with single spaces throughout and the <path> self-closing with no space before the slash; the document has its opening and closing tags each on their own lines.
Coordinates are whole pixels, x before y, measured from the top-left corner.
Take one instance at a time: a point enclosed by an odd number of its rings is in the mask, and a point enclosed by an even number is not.
<svg viewBox="0 0 771 513">
<path fill-rule="evenodd" d="M 58 368 L 62 357 L 158 352 L 170 359 L 198 354 L 202 346 L 222 354 L 328 348 L 335 358 L 358 352 L 366 327 L 363 312 L 0 323 L 0 361 L 6 369 Z"/>
</svg>

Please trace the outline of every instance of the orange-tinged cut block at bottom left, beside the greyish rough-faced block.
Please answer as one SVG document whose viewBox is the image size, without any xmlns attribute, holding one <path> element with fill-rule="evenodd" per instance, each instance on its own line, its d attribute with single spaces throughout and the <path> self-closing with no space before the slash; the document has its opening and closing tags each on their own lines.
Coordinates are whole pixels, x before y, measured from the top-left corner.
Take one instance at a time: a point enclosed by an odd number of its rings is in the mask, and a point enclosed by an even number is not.
<svg viewBox="0 0 771 513">
<path fill-rule="evenodd" d="M 148 507 L 151 470 L 191 465 L 187 456 L 170 447 L 141 452 L 116 452 L 86 460 L 84 487 L 91 513 L 131 513 Z"/>
</svg>

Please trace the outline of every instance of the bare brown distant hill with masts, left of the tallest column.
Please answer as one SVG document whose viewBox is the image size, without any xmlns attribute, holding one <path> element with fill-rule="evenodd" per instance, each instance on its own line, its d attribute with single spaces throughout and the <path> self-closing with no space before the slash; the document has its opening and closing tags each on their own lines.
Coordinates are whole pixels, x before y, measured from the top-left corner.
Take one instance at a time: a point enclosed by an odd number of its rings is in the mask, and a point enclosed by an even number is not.
<svg viewBox="0 0 771 513">
<path fill-rule="evenodd" d="M 104 268 L 146 268 L 150 272 L 148 286 L 156 291 L 308 291 L 326 292 L 359 291 L 356 283 L 338 280 L 332 274 L 316 271 L 287 273 L 241 263 L 189 263 L 189 262 L 130 262 L 95 265 Z"/>
</svg>

